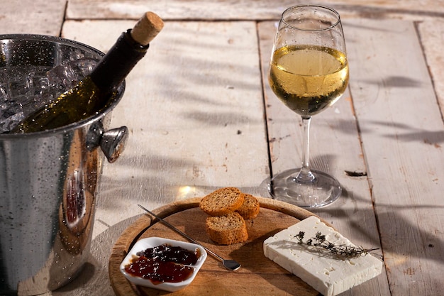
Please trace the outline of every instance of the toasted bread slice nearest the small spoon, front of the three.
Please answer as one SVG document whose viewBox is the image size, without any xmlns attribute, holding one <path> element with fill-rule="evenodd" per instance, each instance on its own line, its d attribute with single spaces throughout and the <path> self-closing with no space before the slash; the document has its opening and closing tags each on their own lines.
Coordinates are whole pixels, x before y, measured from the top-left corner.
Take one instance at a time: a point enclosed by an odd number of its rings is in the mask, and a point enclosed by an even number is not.
<svg viewBox="0 0 444 296">
<path fill-rule="evenodd" d="M 210 239 L 221 245 L 242 243 L 248 239 L 247 224 L 236 212 L 223 216 L 208 216 L 205 227 Z"/>
</svg>

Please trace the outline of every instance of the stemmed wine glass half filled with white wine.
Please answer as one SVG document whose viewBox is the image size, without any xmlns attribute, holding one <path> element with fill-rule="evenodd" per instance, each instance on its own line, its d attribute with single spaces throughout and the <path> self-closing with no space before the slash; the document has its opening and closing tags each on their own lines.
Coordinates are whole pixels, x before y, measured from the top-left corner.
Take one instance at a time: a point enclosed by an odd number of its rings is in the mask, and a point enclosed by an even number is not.
<svg viewBox="0 0 444 296">
<path fill-rule="evenodd" d="M 348 85 L 348 61 L 339 14 L 325 6 L 298 5 L 282 13 L 269 72 L 274 94 L 304 124 L 302 167 L 275 175 L 274 199 L 299 207 L 323 207 L 341 194 L 338 180 L 309 166 L 311 116 L 334 104 Z"/>
</svg>

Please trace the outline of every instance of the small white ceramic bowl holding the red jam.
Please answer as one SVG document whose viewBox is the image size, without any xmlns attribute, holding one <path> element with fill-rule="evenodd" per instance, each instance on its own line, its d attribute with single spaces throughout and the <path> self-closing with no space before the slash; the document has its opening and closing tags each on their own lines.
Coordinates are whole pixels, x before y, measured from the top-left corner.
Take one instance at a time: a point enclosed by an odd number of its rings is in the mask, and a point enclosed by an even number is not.
<svg viewBox="0 0 444 296">
<path fill-rule="evenodd" d="M 131 259 L 133 258 L 133 256 L 136 256 L 136 253 L 138 253 L 140 251 L 145 251 L 147 248 L 153 248 L 155 246 L 160 246 L 164 243 L 167 243 L 170 246 L 178 246 L 178 247 L 184 248 L 184 249 L 192 251 L 192 252 L 196 251 L 196 248 L 199 249 L 199 253 L 201 254 L 201 256 L 199 256 L 199 258 L 196 262 L 196 265 L 189 265 L 191 268 L 194 269 L 192 275 L 190 275 L 189 278 L 187 278 L 186 280 L 182 280 L 182 282 L 179 282 L 179 283 L 164 282 L 164 283 L 154 284 L 149 279 L 140 278 L 138 276 L 131 275 L 125 271 L 125 266 L 131 263 Z M 140 241 L 138 241 L 137 243 L 134 244 L 133 248 L 131 248 L 131 250 L 128 252 L 128 255 L 126 255 L 125 259 L 123 259 L 120 269 L 121 269 L 121 273 L 123 273 L 123 275 L 125 275 L 125 277 L 129 281 L 134 283 L 135 285 L 140 285 L 140 286 L 144 286 L 144 287 L 152 287 L 152 288 L 159 289 L 159 290 L 174 292 L 177 290 L 181 290 L 184 287 L 187 287 L 187 285 L 189 285 L 190 283 L 192 283 L 192 281 L 196 277 L 197 272 L 201 268 L 202 264 L 204 264 L 204 261 L 206 260 L 206 256 L 207 255 L 206 255 L 205 249 L 199 245 L 196 245 L 195 243 L 187 243 L 184 241 L 175 241 L 172 239 L 163 239 L 160 237 L 150 237 L 148 239 L 141 239 Z"/>
</svg>

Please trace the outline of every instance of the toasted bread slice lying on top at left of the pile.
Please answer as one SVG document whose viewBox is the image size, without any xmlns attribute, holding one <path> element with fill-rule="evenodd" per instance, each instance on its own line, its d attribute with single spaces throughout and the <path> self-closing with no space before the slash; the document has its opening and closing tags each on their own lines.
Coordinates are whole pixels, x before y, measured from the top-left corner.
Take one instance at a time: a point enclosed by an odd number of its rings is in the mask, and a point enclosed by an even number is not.
<svg viewBox="0 0 444 296">
<path fill-rule="evenodd" d="M 240 208 L 245 194 L 235 187 L 220 188 L 206 195 L 199 207 L 210 216 L 223 216 Z"/>
</svg>

